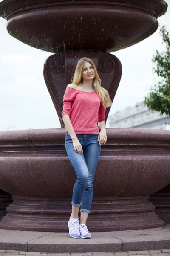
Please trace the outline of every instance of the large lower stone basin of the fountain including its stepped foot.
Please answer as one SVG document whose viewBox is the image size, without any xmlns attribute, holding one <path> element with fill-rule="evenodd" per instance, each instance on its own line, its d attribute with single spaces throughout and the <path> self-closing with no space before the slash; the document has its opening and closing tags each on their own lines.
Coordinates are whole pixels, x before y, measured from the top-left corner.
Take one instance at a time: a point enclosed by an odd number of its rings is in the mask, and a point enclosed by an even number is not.
<svg viewBox="0 0 170 256">
<path fill-rule="evenodd" d="M 67 231 L 76 173 L 65 151 L 65 129 L 25 134 L 27 140 L 19 140 L 17 131 L 0 131 L 0 188 L 14 199 L 0 227 Z M 170 183 L 168 131 L 107 128 L 107 137 L 94 178 L 88 226 L 92 231 L 162 226 L 147 195 Z"/>
</svg>

